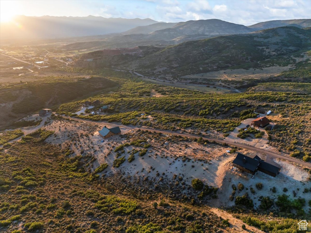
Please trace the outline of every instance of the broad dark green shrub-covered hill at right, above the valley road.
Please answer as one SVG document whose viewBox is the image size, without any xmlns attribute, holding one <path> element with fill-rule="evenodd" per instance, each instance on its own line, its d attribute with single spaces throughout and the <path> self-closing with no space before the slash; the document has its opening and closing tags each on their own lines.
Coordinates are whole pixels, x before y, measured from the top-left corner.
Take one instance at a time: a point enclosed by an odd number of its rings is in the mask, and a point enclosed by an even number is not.
<svg viewBox="0 0 311 233">
<path fill-rule="evenodd" d="M 279 27 L 248 34 L 226 35 L 188 41 L 163 49 L 141 47 L 137 54 L 107 51 L 85 54 L 74 63 L 77 67 L 115 67 L 156 74 L 185 75 L 215 71 L 310 47 L 311 29 Z M 101 55 L 99 55 L 101 54 Z M 86 60 L 94 58 L 91 60 Z"/>
</svg>

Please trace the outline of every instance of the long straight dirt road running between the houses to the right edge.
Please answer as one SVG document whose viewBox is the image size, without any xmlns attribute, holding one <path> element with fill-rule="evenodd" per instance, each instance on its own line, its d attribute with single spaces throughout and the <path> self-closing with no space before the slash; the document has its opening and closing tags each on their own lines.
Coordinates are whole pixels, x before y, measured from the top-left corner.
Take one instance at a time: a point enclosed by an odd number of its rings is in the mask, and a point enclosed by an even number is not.
<svg viewBox="0 0 311 233">
<path fill-rule="evenodd" d="M 65 117 L 65 118 L 73 119 L 73 120 L 76 120 L 76 121 L 88 122 L 88 123 L 107 124 L 107 122 L 97 122 L 97 121 L 95 122 L 95 121 L 91 121 L 91 120 L 84 120 L 84 119 L 71 118 L 71 117 Z M 202 136 L 197 136 L 197 135 L 193 135 L 193 134 L 177 133 L 177 132 L 170 131 L 170 130 L 159 130 L 159 129 L 152 129 L 152 128 L 140 128 L 140 127 L 128 126 L 128 125 L 123 125 L 123 124 L 118 124 L 118 123 L 109 123 L 109 124 L 113 125 L 113 126 L 122 126 L 124 128 L 127 128 L 127 129 L 140 129 L 140 130 L 145 130 L 145 131 L 150 131 L 150 132 L 164 133 L 164 134 L 170 134 L 170 135 L 176 135 L 176 136 L 182 136 L 182 137 L 189 137 L 189 138 L 197 138 L 198 139 L 198 138 L 202 137 Z M 244 148 L 244 149 L 248 149 L 250 151 L 256 151 L 256 152 L 265 154 L 267 156 L 270 156 L 272 158 L 284 159 L 284 160 L 287 160 L 287 161 L 290 161 L 290 162 L 294 162 L 296 164 L 299 164 L 299 165 L 302 165 L 302 166 L 305 166 L 305 167 L 308 167 L 308 168 L 311 169 L 311 163 L 295 159 L 295 158 L 290 157 L 288 155 L 281 155 L 281 154 L 278 154 L 276 152 L 267 151 L 267 150 L 263 150 L 263 149 L 260 149 L 260 148 L 257 148 L 257 147 L 245 145 L 245 144 L 238 143 L 238 142 L 231 142 L 231 141 L 227 141 L 227 140 L 224 140 L 224 139 L 216 139 L 216 138 L 209 138 L 209 137 L 202 137 L 202 139 L 210 141 L 210 142 L 215 141 L 215 142 L 218 142 L 218 143 L 227 143 L 228 145 L 231 145 L 231 146 L 241 147 L 241 148 Z"/>
</svg>

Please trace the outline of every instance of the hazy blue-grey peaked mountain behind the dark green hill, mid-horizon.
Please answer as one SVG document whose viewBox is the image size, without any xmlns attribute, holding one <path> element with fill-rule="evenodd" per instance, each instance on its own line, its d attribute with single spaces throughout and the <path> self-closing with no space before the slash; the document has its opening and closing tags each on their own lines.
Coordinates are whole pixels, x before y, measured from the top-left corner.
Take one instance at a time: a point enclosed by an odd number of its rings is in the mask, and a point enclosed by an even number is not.
<svg viewBox="0 0 311 233">
<path fill-rule="evenodd" d="M 149 25 L 135 28 L 130 31 L 148 31 L 150 28 L 159 26 Z M 167 25 L 161 24 L 160 27 Z M 130 35 L 113 35 L 105 38 L 102 41 L 92 42 L 78 42 L 74 44 L 65 45 L 62 49 L 75 50 L 75 49 L 108 49 L 108 48 L 126 48 L 144 45 L 170 45 L 179 44 L 180 42 L 189 40 L 198 40 L 214 37 L 217 35 L 230 35 L 249 33 L 254 30 L 244 25 L 234 24 L 219 19 L 187 21 L 175 24 L 172 27 L 164 28 L 161 30 L 152 31 L 146 34 L 130 34 Z M 124 33 L 122 33 L 124 34 Z"/>
</svg>

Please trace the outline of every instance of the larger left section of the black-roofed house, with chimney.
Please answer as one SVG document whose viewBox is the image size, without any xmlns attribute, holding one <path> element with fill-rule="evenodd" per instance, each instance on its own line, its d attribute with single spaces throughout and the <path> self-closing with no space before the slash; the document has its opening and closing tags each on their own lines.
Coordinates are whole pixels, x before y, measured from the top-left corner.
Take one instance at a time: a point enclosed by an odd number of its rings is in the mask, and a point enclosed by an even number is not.
<svg viewBox="0 0 311 233">
<path fill-rule="evenodd" d="M 232 162 L 232 166 L 251 174 L 253 177 L 257 171 L 259 162 L 260 161 L 258 161 L 257 159 L 253 159 L 251 157 L 238 153 L 234 161 Z"/>
</svg>

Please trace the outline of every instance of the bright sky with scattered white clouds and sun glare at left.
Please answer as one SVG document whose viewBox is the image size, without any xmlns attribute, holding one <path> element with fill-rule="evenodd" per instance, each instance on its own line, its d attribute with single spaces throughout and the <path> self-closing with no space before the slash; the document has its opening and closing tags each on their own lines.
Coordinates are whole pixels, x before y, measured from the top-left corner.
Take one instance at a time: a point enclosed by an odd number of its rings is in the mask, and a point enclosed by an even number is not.
<svg viewBox="0 0 311 233">
<path fill-rule="evenodd" d="M 220 19 L 252 25 L 311 18 L 311 0 L 0 0 L 0 21 L 13 15 L 151 18 L 163 22 Z"/>
</svg>

